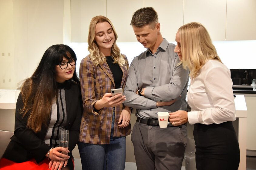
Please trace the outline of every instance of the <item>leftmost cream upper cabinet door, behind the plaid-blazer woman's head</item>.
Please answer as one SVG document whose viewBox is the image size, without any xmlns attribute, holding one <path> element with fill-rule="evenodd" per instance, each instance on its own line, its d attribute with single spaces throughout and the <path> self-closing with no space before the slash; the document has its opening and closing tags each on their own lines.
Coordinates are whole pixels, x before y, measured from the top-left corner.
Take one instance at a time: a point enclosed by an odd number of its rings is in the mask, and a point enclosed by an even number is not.
<svg viewBox="0 0 256 170">
<path fill-rule="evenodd" d="M 71 0 L 71 42 L 86 42 L 89 24 L 97 15 L 106 16 L 106 0 Z"/>
</svg>

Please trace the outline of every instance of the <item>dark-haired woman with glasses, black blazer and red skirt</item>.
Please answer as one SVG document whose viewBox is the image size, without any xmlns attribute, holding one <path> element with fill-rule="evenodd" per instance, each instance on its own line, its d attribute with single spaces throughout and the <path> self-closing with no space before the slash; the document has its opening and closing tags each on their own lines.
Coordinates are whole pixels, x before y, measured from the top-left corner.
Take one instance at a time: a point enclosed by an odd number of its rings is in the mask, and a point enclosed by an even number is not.
<svg viewBox="0 0 256 170">
<path fill-rule="evenodd" d="M 0 160 L 1 170 L 74 169 L 72 150 L 83 110 L 76 60 L 69 46 L 53 45 L 24 81 L 16 103 L 14 136 Z M 68 150 L 59 147 L 60 130 L 69 130 Z"/>
</svg>

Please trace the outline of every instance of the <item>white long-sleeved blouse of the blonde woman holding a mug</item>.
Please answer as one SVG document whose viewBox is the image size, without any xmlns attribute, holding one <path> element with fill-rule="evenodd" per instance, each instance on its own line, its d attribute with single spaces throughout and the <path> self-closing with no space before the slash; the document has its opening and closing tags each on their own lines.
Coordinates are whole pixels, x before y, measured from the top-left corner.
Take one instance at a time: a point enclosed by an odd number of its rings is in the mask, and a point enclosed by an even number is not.
<svg viewBox="0 0 256 170">
<path fill-rule="evenodd" d="M 230 70 L 221 62 L 208 60 L 187 92 L 190 124 L 223 123 L 236 120 Z"/>
</svg>

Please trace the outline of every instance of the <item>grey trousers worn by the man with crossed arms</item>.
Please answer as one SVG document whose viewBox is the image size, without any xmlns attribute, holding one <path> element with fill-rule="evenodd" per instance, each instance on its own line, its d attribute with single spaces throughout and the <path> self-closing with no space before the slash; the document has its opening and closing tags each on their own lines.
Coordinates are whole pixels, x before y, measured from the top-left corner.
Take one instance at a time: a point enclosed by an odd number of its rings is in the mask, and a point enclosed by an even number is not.
<svg viewBox="0 0 256 170">
<path fill-rule="evenodd" d="M 180 170 L 187 144 L 187 127 L 135 123 L 131 135 L 138 170 Z"/>
</svg>

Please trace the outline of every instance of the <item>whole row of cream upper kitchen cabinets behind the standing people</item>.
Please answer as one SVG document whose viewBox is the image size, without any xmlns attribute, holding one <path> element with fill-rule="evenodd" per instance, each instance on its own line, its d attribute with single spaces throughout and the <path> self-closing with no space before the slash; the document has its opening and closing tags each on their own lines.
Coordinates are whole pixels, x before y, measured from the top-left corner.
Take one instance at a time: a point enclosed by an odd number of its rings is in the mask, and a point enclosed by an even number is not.
<svg viewBox="0 0 256 170">
<path fill-rule="evenodd" d="M 161 33 L 175 41 L 177 29 L 189 22 L 200 22 L 213 41 L 256 40 L 255 0 L 70 0 L 71 41 L 87 42 L 89 22 L 96 15 L 107 16 L 118 34 L 117 42 L 136 42 L 130 21 L 133 13 L 153 7 Z"/>
</svg>

